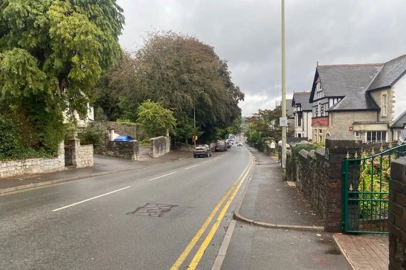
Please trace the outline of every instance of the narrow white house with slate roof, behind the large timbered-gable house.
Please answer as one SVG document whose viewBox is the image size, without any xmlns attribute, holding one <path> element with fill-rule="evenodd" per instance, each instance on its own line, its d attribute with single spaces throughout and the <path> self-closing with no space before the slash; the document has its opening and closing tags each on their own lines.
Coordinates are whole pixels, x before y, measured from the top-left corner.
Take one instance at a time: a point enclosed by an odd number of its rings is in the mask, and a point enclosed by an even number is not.
<svg viewBox="0 0 406 270">
<path fill-rule="evenodd" d="M 312 139 L 312 104 L 310 92 L 294 92 L 292 108 L 295 121 L 295 137 Z"/>
</svg>

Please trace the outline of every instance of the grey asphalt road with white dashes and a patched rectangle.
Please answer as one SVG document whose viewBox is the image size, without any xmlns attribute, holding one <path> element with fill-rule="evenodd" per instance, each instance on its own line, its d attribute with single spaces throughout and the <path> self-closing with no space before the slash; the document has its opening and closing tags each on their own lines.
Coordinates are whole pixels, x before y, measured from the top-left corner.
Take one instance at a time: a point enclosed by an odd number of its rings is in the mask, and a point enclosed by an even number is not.
<svg viewBox="0 0 406 270">
<path fill-rule="evenodd" d="M 210 269 L 250 163 L 235 146 L 0 196 L 0 268 Z M 131 214 L 147 203 L 169 211 Z"/>
</svg>

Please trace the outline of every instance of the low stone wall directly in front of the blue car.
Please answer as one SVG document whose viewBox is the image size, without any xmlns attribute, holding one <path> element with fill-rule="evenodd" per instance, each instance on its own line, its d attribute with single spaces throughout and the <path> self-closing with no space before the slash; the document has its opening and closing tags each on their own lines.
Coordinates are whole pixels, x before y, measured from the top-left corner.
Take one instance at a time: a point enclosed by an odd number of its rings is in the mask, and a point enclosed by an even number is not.
<svg viewBox="0 0 406 270">
<path fill-rule="evenodd" d="M 108 141 L 100 148 L 94 149 L 96 154 L 102 154 L 112 157 L 120 157 L 129 160 L 138 160 L 139 148 L 138 141 L 114 142 Z"/>
</svg>

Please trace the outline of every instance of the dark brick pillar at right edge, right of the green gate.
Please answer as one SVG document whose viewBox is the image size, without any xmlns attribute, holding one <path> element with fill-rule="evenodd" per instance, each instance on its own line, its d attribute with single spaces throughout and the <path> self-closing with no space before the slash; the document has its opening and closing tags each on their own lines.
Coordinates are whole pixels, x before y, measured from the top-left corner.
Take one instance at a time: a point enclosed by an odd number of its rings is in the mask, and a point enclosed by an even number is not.
<svg viewBox="0 0 406 270">
<path fill-rule="evenodd" d="M 406 268 L 406 157 L 390 165 L 389 269 Z"/>
</svg>

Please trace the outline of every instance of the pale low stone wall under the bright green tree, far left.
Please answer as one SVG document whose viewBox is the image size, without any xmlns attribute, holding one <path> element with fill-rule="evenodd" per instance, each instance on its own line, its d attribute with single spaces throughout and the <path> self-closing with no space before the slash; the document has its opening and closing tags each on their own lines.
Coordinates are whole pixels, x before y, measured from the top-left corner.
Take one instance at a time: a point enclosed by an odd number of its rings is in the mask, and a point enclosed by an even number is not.
<svg viewBox="0 0 406 270">
<path fill-rule="evenodd" d="M 64 143 L 60 144 L 59 154 L 54 158 L 30 158 L 0 161 L 0 178 L 62 170 L 65 170 Z"/>
</svg>

